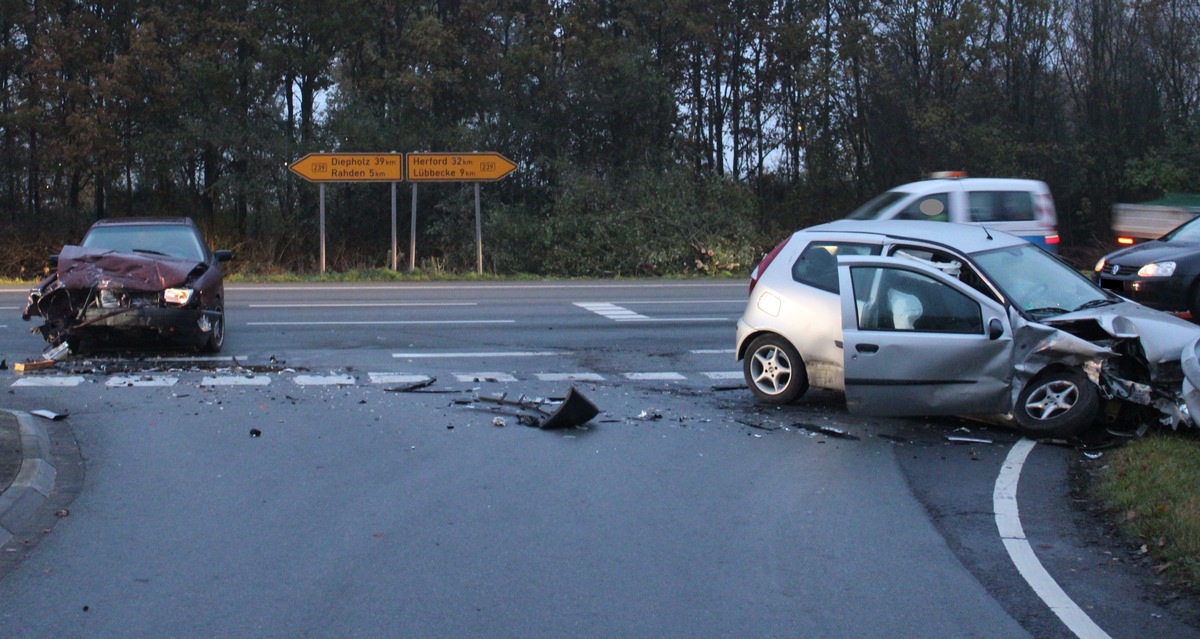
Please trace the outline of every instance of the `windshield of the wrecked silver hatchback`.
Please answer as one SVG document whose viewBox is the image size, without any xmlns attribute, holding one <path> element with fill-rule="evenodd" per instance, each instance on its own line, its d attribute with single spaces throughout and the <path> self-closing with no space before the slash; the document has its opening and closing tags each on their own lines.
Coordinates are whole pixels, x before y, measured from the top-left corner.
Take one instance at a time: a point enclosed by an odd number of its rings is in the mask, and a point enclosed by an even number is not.
<svg viewBox="0 0 1200 639">
<path fill-rule="evenodd" d="M 1032 244 L 972 257 L 1016 307 L 1037 320 L 1118 301 L 1079 271 Z"/>
</svg>

